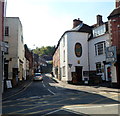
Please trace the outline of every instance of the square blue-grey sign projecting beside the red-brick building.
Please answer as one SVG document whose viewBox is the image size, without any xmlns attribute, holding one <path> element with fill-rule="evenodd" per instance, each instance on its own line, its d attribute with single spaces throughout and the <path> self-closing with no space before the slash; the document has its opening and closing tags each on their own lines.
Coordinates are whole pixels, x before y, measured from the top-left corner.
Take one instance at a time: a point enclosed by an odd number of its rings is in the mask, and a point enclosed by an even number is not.
<svg viewBox="0 0 120 116">
<path fill-rule="evenodd" d="M 106 62 L 116 62 L 117 56 L 116 56 L 116 46 L 110 46 L 106 48 Z"/>
</svg>

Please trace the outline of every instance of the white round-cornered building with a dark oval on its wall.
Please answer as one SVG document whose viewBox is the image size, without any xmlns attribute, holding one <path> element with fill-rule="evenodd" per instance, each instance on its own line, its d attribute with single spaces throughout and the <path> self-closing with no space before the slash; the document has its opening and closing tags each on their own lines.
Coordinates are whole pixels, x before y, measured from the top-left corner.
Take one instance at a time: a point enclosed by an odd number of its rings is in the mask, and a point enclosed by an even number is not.
<svg viewBox="0 0 120 116">
<path fill-rule="evenodd" d="M 82 83 L 89 78 L 88 39 L 91 27 L 75 19 L 74 28 L 66 31 L 60 38 L 60 76 L 61 80 Z"/>
</svg>

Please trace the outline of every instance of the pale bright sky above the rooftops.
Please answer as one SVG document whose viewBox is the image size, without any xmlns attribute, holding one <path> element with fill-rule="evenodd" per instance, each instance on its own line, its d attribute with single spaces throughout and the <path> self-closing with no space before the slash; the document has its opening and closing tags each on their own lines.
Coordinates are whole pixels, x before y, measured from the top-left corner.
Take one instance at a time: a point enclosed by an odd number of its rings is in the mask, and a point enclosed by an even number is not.
<svg viewBox="0 0 120 116">
<path fill-rule="evenodd" d="M 6 16 L 20 18 L 24 44 L 34 49 L 57 45 L 74 19 L 91 26 L 98 14 L 107 21 L 114 8 L 115 0 L 7 0 Z"/>
</svg>

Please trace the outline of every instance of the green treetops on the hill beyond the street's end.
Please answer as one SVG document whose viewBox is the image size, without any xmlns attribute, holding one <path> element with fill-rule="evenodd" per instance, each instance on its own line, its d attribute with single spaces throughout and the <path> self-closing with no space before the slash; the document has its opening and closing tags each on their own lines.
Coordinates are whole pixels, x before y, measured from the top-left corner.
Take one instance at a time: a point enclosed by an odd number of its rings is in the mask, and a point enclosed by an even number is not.
<svg viewBox="0 0 120 116">
<path fill-rule="evenodd" d="M 33 52 L 35 54 L 38 54 L 39 56 L 44 56 L 44 55 L 48 55 L 48 56 L 52 56 L 53 52 L 55 50 L 55 46 L 42 46 L 41 48 L 36 47 L 36 49 L 33 50 Z"/>
</svg>

